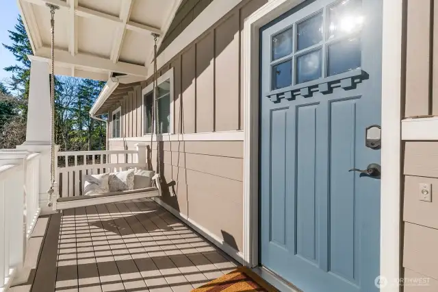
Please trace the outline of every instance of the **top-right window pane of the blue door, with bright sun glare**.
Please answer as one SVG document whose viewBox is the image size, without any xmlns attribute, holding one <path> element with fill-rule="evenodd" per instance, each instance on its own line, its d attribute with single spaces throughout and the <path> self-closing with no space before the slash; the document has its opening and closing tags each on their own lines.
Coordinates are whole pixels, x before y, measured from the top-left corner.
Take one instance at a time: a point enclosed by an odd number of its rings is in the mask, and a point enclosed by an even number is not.
<svg viewBox="0 0 438 292">
<path fill-rule="evenodd" d="M 343 0 L 328 9 L 327 38 L 337 38 L 358 32 L 365 21 L 361 0 Z"/>
</svg>

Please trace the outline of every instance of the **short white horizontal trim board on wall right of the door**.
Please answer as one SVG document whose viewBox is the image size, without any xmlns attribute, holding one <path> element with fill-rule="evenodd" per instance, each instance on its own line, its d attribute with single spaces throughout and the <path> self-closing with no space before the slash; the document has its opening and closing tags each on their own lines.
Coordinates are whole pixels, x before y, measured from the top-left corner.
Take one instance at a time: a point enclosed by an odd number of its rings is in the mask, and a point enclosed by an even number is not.
<svg viewBox="0 0 438 292">
<path fill-rule="evenodd" d="M 438 140 L 438 117 L 402 120 L 402 140 Z"/>
</svg>

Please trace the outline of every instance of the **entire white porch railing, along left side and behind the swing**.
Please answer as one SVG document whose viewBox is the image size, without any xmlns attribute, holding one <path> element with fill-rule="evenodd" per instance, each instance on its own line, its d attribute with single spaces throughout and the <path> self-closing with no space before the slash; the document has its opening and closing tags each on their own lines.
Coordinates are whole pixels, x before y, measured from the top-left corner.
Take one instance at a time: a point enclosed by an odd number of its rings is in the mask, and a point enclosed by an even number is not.
<svg viewBox="0 0 438 292">
<path fill-rule="evenodd" d="M 55 158 L 61 195 L 81 195 L 84 174 L 146 167 L 146 145 L 138 144 L 136 150 L 57 151 Z M 48 178 L 40 169 L 47 169 L 48 159 L 40 153 L 0 149 L 0 292 L 23 268 L 27 241 L 40 215 L 41 188 Z"/>
</svg>

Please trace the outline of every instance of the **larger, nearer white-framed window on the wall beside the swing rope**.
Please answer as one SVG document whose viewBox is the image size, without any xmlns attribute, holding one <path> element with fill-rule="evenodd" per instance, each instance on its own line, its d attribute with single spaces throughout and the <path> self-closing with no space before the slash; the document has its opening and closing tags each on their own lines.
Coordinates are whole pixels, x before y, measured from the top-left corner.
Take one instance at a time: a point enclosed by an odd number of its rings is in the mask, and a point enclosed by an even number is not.
<svg viewBox="0 0 438 292">
<path fill-rule="evenodd" d="M 152 121 L 154 90 L 153 84 L 149 84 L 142 90 L 143 94 L 143 134 L 152 133 L 153 126 L 158 127 L 159 134 L 173 134 L 173 68 L 157 79 L 157 117 Z M 158 118 L 158 119 L 157 119 Z M 155 128 L 156 129 L 156 128 Z M 155 129 L 153 132 L 155 132 Z M 156 133 L 154 133 L 156 134 Z"/>
</svg>

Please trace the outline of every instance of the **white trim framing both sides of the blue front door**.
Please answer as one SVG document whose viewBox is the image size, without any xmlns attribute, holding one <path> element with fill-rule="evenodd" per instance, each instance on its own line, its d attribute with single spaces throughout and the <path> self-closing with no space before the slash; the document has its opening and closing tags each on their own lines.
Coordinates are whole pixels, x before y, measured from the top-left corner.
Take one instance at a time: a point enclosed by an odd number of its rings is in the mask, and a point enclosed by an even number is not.
<svg viewBox="0 0 438 292">
<path fill-rule="evenodd" d="M 259 264 L 259 29 L 303 0 L 270 0 L 244 24 L 244 260 Z M 399 291 L 402 0 L 383 1 L 381 275 Z"/>
</svg>

